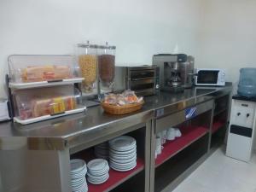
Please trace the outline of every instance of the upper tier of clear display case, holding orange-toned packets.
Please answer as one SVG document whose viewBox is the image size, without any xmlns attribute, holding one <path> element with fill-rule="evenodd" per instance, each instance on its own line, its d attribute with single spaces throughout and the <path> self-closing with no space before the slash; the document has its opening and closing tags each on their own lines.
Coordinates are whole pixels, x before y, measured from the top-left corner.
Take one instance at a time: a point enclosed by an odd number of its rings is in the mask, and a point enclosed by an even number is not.
<svg viewBox="0 0 256 192">
<path fill-rule="evenodd" d="M 73 55 L 9 55 L 9 87 L 26 89 L 83 80 Z"/>
</svg>

